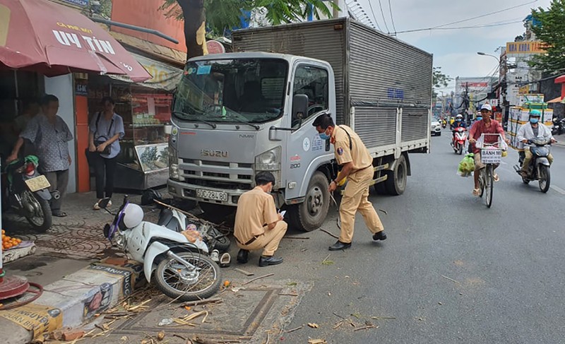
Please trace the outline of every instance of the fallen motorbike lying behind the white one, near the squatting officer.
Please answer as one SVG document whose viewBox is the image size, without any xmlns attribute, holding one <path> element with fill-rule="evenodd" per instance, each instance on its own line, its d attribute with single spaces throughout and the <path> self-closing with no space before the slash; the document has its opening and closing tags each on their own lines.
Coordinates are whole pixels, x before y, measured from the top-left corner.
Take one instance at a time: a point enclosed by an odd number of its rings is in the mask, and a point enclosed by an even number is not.
<svg viewBox="0 0 565 344">
<path fill-rule="evenodd" d="M 230 265 L 231 257 L 227 253 L 230 249 L 230 238 L 220 232 L 213 224 L 194 216 L 189 218 L 184 212 L 169 206 L 169 208 L 162 208 L 157 225 L 162 225 L 175 232 L 198 231 L 210 250 L 210 258 L 222 267 Z M 220 253 L 222 253 L 221 256 Z"/>
</svg>

